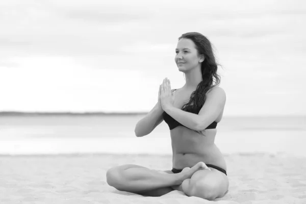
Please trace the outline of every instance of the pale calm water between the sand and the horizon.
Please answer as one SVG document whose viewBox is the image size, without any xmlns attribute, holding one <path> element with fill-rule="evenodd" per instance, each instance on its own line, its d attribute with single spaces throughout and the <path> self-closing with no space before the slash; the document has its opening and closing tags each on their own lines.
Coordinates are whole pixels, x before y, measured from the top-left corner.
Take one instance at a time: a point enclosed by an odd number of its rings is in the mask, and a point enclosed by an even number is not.
<svg viewBox="0 0 306 204">
<path fill-rule="evenodd" d="M 137 138 L 144 115 L 1 116 L 0 154 L 171 154 L 168 126 Z M 215 143 L 223 154 L 283 152 L 306 156 L 306 116 L 223 117 Z"/>
</svg>

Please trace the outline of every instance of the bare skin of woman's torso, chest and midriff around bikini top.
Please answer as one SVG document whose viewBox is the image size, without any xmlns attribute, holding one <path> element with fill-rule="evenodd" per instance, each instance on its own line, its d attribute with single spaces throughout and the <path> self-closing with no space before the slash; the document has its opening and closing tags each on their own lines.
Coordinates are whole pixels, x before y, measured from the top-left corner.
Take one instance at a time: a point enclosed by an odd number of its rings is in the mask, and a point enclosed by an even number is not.
<svg viewBox="0 0 306 204">
<path fill-rule="evenodd" d="M 173 106 L 181 109 L 190 95 L 190 91 L 175 90 Z M 215 121 L 220 122 L 222 115 L 223 110 Z M 192 167 L 198 162 L 204 162 L 226 170 L 223 155 L 214 143 L 216 133 L 216 129 L 207 129 L 202 131 L 205 135 L 203 136 L 181 125 L 170 130 L 173 168 L 183 169 Z"/>
</svg>

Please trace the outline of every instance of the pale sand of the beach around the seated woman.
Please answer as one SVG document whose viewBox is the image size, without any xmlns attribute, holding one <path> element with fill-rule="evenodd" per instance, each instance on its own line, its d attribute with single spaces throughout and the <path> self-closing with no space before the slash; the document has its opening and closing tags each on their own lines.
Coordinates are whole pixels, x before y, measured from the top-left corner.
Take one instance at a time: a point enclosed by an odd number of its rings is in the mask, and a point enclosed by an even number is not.
<svg viewBox="0 0 306 204">
<path fill-rule="evenodd" d="M 306 158 L 269 154 L 225 156 L 228 194 L 215 201 L 172 191 L 161 197 L 122 192 L 106 182 L 122 164 L 171 169 L 171 156 L 1 156 L 0 203 L 306 203 Z"/>
</svg>

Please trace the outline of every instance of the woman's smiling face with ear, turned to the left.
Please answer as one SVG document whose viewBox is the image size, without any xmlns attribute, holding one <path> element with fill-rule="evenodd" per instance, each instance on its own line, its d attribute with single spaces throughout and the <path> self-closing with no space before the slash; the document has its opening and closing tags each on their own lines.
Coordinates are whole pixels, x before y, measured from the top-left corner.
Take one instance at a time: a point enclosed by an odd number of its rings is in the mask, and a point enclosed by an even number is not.
<svg viewBox="0 0 306 204">
<path fill-rule="evenodd" d="M 182 72 L 187 72 L 193 69 L 203 61 L 203 58 L 198 56 L 194 42 L 190 39 L 180 39 L 179 42 L 177 42 L 175 53 L 175 63 L 179 68 L 179 71 Z"/>
</svg>

